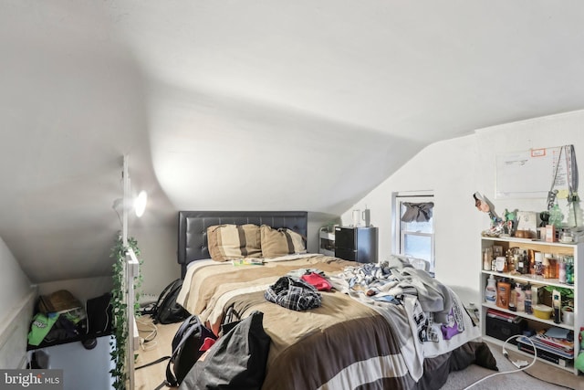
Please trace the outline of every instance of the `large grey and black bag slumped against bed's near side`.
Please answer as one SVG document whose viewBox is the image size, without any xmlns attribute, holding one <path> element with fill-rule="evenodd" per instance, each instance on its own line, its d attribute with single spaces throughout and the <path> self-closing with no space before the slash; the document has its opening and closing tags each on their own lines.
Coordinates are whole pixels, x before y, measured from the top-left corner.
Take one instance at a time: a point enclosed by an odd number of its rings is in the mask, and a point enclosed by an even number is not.
<svg viewBox="0 0 584 390">
<path fill-rule="evenodd" d="M 271 342 L 263 320 L 264 313 L 254 311 L 239 321 L 214 343 L 203 360 L 194 364 L 179 390 L 260 389 Z"/>
</svg>

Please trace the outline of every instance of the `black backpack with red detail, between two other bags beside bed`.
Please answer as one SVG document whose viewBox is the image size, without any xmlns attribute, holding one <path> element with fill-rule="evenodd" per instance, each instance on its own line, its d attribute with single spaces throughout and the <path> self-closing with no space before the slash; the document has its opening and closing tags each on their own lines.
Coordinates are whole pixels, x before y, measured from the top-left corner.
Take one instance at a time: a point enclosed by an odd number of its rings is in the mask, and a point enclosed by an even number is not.
<svg viewBox="0 0 584 390">
<path fill-rule="evenodd" d="M 214 333 L 196 315 L 187 318 L 172 338 L 171 360 L 166 365 L 166 385 L 180 385 L 184 376 L 203 355 L 203 345 L 208 347 L 214 340 Z"/>
</svg>

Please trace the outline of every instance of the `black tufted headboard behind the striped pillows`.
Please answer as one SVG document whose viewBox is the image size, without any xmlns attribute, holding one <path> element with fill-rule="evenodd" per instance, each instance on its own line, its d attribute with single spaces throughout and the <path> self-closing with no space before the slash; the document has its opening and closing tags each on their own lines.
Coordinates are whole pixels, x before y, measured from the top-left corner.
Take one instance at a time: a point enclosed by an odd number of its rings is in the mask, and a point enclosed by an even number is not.
<svg viewBox="0 0 584 390">
<path fill-rule="evenodd" d="M 178 262 L 182 278 L 191 261 L 211 258 L 207 248 L 207 227 L 223 224 L 287 227 L 308 237 L 306 211 L 179 211 Z"/>
</svg>

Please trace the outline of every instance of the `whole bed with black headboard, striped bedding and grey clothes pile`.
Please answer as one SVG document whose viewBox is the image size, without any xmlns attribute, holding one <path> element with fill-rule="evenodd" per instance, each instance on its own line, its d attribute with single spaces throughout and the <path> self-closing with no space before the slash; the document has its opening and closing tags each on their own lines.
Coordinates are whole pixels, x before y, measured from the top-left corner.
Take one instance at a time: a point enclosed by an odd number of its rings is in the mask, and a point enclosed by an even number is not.
<svg viewBox="0 0 584 390">
<path fill-rule="evenodd" d="M 237 227 L 251 261 L 212 259 L 218 239 L 209 227 Z M 266 245 L 259 257 L 252 248 L 255 227 L 266 228 L 257 238 Z M 179 213 L 183 290 L 177 301 L 214 332 L 227 320 L 264 313 L 271 343 L 263 389 L 438 389 L 451 371 L 469 364 L 495 368 L 461 300 L 407 258 L 360 264 L 302 253 L 290 237 L 287 254 L 263 256 L 272 244 L 268 233 L 276 232 L 307 237 L 308 213 Z M 333 287 L 318 291 L 318 306 L 298 311 L 266 299 L 280 280 L 308 273 Z"/>
</svg>

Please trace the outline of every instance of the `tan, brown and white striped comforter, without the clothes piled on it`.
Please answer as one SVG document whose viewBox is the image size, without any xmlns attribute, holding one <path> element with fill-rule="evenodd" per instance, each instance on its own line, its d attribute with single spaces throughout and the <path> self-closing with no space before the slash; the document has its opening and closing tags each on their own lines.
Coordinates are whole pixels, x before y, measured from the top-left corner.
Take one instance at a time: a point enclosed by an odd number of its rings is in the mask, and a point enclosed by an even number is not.
<svg viewBox="0 0 584 390">
<path fill-rule="evenodd" d="M 272 340 L 264 389 L 417 388 L 420 374 L 412 376 L 412 335 L 401 334 L 410 332 L 401 305 L 385 304 L 381 313 L 333 291 L 321 292 L 321 307 L 291 311 L 264 298 L 266 288 L 290 271 L 319 269 L 335 275 L 355 265 L 314 255 L 278 258 L 263 266 L 197 261 L 188 269 L 177 301 L 214 332 L 227 311 L 235 318 L 264 313 Z"/>
</svg>

